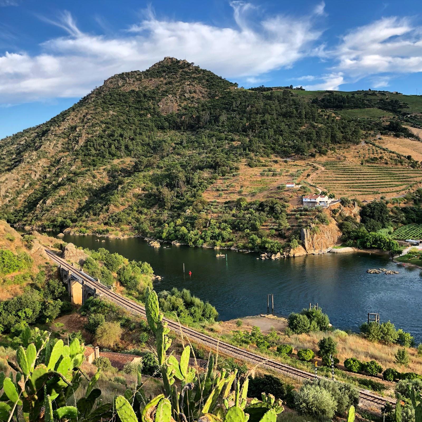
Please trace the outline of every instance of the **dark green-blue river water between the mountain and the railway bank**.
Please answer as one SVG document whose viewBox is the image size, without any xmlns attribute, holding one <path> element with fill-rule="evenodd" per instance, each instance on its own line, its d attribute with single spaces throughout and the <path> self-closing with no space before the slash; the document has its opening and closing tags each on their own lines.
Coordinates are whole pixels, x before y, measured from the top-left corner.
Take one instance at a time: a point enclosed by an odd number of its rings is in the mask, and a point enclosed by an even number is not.
<svg viewBox="0 0 422 422">
<path fill-rule="evenodd" d="M 62 239 L 149 262 L 163 277 L 154 285 L 157 291 L 186 287 L 214 305 L 223 320 L 266 313 L 267 294 L 273 293 L 277 314 L 318 303 L 335 327 L 357 331 L 368 312 L 379 312 L 381 321 L 390 319 L 422 341 L 422 270 L 398 267 L 386 256 L 329 253 L 262 261 L 257 254 L 221 251 L 227 253 L 226 263 L 225 258 L 216 258 L 214 249 L 172 245 L 154 249 L 140 238 L 101 242 L 104 238 L 65 235 Z M 368 268 L 394 269 L 399 274 L 368 274 Z"/>
</svg>

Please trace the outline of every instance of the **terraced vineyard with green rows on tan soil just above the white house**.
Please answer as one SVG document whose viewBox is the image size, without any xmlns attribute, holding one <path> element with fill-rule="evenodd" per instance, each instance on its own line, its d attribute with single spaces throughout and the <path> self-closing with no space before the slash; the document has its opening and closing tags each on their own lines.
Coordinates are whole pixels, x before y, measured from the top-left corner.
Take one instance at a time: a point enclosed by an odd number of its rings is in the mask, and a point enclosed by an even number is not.
<svg viewBox="0 0 422 422">
<path fill-rule="evenodd" d="M 360 165 L 353 162 L 325 161 L 313 183 L 339 197 L 355 196 L 371 199 L 385 195 L 404 194 L 409 188 L 422 182 L 422 170 L 385 165 Z"/>
</svg>

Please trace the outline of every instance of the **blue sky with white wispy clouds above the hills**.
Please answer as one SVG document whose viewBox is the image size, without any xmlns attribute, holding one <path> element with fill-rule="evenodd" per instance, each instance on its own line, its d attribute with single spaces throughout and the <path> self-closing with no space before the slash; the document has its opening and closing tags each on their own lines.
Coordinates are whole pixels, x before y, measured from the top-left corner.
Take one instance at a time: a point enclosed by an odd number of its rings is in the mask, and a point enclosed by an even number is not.
<svg viewBox="0 0 422 422">
<path fill-rule="evenodd" d="M 419 0 L 0 0 L 0 138 L 165 56 L 239 86 L 422 90 Z"/>
</svg>

